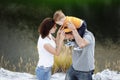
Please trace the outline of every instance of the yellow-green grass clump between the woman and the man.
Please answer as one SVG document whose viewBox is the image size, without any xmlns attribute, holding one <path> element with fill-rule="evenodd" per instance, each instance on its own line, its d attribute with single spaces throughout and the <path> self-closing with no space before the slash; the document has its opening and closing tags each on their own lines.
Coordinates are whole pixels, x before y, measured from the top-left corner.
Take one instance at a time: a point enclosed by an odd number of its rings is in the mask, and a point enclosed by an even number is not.
<svg viewBox="0 0 120 80">
<path fill-rule="evenodd" d="M 66 72 L 72 63 L 71 50 L 68 47 L 63 47 L 59 56 L 55 56 L 55 63 L 53 65 L 53 73 Z"/>
</svg>

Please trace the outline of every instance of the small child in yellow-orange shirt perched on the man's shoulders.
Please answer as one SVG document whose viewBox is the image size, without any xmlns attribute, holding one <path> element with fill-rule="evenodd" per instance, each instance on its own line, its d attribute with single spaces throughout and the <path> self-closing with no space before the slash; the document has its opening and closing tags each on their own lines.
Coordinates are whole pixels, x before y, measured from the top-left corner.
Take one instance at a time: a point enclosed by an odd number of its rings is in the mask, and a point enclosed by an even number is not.
<svg viewBox="0 0 120 80">
<path fill-rule="evenodd" d="M 62 28 L 64 28 L 65 33 L 71 32 L 71 30 L 67 28 L 68 22 L 72 22 L 75 25 L 81 37 L 83 37 L 85 29 L 87 28 L 84 20 L 73 16 L 65 16 L 62 10 L 56 11 L 53 15 L 53 19 L 55 20 L 56 24 L 61 25 Z"/>
</svg>

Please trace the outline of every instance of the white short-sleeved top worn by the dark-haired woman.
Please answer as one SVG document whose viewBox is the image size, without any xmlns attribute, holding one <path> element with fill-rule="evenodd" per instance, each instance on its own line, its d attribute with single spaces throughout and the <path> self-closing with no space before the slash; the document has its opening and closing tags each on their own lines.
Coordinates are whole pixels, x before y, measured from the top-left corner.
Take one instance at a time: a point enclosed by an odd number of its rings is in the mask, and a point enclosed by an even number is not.
<svg viewBox="0 0 120 80">
<path fill-rule="evenodd" d="M 45 48 L 45 44 L 51 44 L 54 48 L 56 48 L 55 41 L 52 38 L 52 35 L 49 35 L 50 38 L 45 37 L 44 39 L 41 38 L 41 35 L 38 39 L 38 54 L 39 54 L 39 61 L 37 66 L 44 66 L 44 67 L 52 67 L 54 63 L 54 55 L 48 52 Z"/>
</svg>

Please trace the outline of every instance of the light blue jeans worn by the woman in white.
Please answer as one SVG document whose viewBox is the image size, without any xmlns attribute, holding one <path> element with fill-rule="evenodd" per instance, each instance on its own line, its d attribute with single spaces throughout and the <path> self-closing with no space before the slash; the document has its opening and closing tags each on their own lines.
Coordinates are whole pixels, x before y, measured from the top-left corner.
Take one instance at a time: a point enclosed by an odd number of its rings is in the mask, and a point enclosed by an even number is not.
<svg viewBox="0 0 120 80">
<path fill-rule="evenodd" d="M 51 78 L 51 67 L 36 67 L 35 72 L 38 80 L 50 80 Z"/>
</svg>

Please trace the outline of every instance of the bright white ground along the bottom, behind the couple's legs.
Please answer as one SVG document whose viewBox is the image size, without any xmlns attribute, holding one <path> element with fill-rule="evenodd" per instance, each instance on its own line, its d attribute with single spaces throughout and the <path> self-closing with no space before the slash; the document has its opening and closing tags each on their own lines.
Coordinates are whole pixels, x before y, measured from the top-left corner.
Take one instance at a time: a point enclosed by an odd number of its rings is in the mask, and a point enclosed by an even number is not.
<svg viewBox="0 0 120 80">
<path fill-rule="evenodd" d="M 51 80 L 64 80 L 65 73 L 55 73 Z M 29 73 L 12 72 L 0 68 L 0 80 L 37 80 L 35 75 Z M 120 80 L 120 72 L 105 69 L 93 75 L 93 80 Z"/>
</svg>

